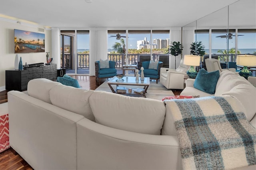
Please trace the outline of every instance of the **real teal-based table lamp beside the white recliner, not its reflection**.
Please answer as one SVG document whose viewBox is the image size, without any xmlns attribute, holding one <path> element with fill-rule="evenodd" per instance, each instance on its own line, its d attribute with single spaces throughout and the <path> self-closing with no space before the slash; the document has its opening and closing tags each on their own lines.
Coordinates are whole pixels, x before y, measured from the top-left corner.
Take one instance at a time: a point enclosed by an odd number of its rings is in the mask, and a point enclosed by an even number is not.
<svg viewBox="0 0 256 170">
<path fill-rule="evenodd" d="M 189 78 L 196 78 L 197 72 L 194 69 L 194 66 L 200 65 L 200 55 L 184 55 L 184 64 L 190 65 L 190 68 L 187 71 L 187 75 Z"/>
</svg>

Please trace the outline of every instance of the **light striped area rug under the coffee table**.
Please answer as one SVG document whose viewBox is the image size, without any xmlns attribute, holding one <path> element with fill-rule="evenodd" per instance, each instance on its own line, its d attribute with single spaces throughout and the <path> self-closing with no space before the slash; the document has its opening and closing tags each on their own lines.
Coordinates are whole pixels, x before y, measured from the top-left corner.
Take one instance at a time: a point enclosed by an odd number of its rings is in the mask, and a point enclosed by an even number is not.
<svg viewBox="0 0 256 170">
<path fill-rule="evenodd" d="M 95 90 L 101 90 L 101 91 L 108 91 L 112 92 L 110 90 L 110 87 L 108 86 L 108 80 L 106 80 L 102 85 L 100 85 L 97 89 Z M 126 86 L 126 88 L 142 88 L 143 86 Z M 115 89 L 115 86 L 113 86 Z M 150 81 L 150 85 L 148 87 L 146 97 L 149 99 L 156 99 L 156 100 L 162 100 L 162 98 L 166 96 L 174 96 L 174 93 L 170 89 L 166 89 L 161 83 L 158 82 L 156 84 L 156 81 Z"/>
</svg>

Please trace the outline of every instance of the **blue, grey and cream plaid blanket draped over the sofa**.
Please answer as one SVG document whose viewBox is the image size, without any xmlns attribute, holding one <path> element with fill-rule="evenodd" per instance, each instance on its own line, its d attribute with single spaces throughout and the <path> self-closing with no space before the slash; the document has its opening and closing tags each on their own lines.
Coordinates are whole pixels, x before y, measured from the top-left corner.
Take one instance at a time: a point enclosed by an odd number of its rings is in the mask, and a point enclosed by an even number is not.
<svg viewBox="0 0 256 170">
<path fill-rule="evenodd" d="M 256 164 L 256 129 L 231 96 L 174 99 L 170 105 L 184 169 L 232 169 Z"/>
</svg>

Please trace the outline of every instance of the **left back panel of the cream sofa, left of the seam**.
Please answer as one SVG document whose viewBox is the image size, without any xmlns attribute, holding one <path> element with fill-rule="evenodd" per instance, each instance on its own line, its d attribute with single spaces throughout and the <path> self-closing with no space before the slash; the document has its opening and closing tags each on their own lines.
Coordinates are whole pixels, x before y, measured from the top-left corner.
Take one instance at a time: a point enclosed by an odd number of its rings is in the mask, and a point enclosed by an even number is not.
<svg viewBox="0 0 256 170">
<path fill-rule="evenodd" d="M 10 146 L 28 164 L 34 169 L 76 169 L 76 122 L 82 115 L 20 91 L 8 92 L 8 110 Z"/>
</svg>

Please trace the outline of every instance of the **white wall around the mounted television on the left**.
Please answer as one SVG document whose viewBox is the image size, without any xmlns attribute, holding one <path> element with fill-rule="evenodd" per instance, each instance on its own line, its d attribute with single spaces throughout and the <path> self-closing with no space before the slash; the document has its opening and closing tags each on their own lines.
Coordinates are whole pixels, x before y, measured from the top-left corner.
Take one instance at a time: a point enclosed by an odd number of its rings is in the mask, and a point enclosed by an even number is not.
<svg viewBox="0 0 256 170">
<path fill-rule="evenodd" d="M 41 27 L 40 27 L 41 28 Z M 14 29 L 38 32 L 37 26 L 18 24 L 17 22 L 0 18 L 0 91 L 5 90 L 5 70 L 14 69 Z M 43 32 L 38 32 L 43 33 Z M 51 54 L 51 31 L 45 30 L 45 51 Z M 46 53 L 19 53 L 22 62 L 46 63 Z M 51 55 L 50 55 L 51 56 Z"/>
</svg>

